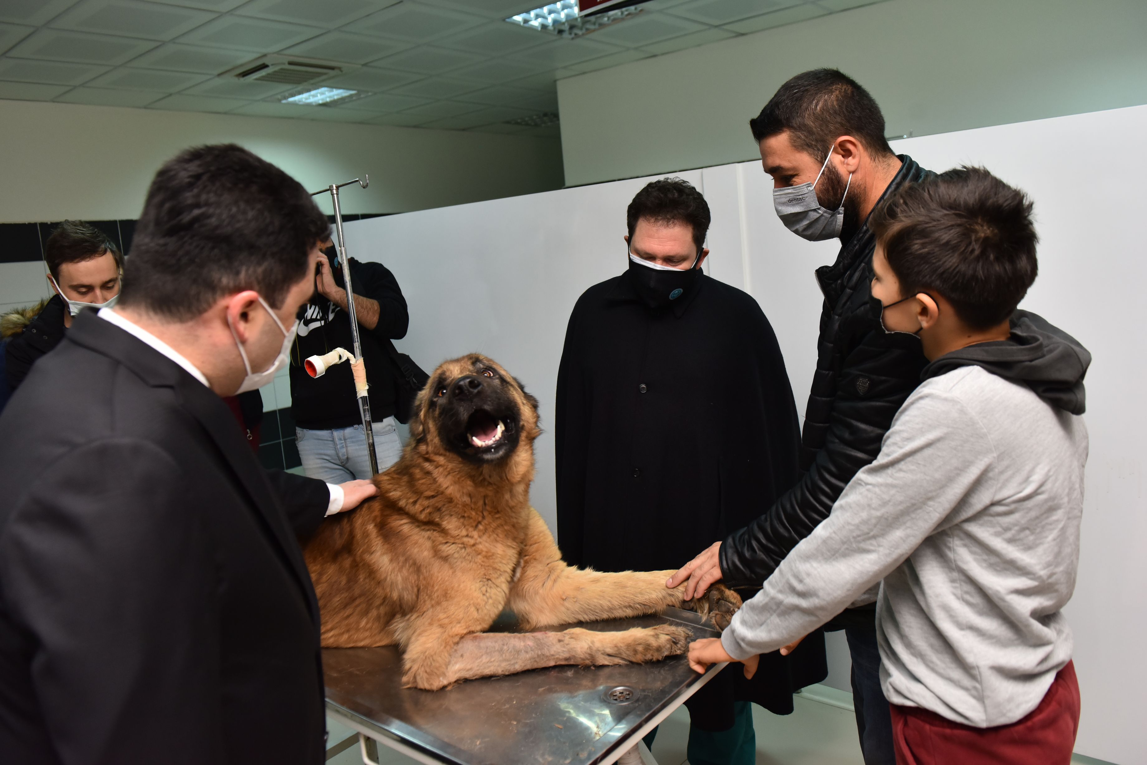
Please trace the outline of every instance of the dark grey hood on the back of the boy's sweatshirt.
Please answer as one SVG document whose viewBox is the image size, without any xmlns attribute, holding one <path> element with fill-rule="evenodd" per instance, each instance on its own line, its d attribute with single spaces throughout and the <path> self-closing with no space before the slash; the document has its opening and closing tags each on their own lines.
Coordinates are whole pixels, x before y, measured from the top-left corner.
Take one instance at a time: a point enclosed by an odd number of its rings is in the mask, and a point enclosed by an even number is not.
<svg viewBox="0 0 1147 765">
<path fill-rule="evenodd" d="M 1084 375 L 1091 353 L 1079 341 L 1029 311 L 1012 315 L 1012 336 L 994 343 L 977 343 L 936 359 L 921 373 L 938 377 L 959 367 L 983 367 L 998 377 L 1030 388 L 1052 406 L 1083 414 Z"/>
</svg>

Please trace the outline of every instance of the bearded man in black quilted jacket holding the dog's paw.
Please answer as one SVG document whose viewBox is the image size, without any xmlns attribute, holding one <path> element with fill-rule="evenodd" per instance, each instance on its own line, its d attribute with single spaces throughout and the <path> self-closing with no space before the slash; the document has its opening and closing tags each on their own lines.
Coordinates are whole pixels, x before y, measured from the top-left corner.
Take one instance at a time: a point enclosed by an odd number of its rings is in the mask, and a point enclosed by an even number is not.
<svg viewBox="0 0 1147 765">
<path fill-rule="evenodd" d="M 896 155 L 884 117 L 859 84 L 835 69 L 797 75 L 749 122 L 773 178 L 777 214 L 810 241 L 838 237 L 836 263 L 817 270 L 825 303 L 817 373 L 801 438 L 801 481 L 750 525 L 678 571 L 686 596 L 719 579 L 759 586 L 833 509 L 844 486 L 880 452 L 892 416 L 920 383 L 920 341 L 885 334 L 869 291 L 875 240 L 868 214 L 905 184 L 930 174 Z M 843 629 L 852 655 L 852 694 L 866 765 L 894 765 L 888 701 L 880 687 L 875 592 L 825 629 Z M 782 649 L 783 650 L 783 649 Z"/>
</svg>

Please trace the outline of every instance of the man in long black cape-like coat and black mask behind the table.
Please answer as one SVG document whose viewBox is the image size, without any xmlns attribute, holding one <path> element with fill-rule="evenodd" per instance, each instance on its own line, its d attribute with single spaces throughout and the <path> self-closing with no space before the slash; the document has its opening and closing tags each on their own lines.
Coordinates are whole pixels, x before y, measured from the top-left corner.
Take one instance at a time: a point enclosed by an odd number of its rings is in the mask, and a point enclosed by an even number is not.
<svg viewBox="0 0 1147 765">
<path fill-rule="evenodd" d="M 557 540 L 569 563 L 672 569 L 798 477 L 785 360 L 750 296 L 701 272 L 704 197 L 654 181 L 627 211 L 629 268 L 574 307 L 557 373 Z M 759 585 L 759 583 L 757 583 Z M 752 763 L 749 701 L 793 711 L 826 676 L 819 635 L 723 672 L 687 703 L 693 765 Z"/>
</svg>

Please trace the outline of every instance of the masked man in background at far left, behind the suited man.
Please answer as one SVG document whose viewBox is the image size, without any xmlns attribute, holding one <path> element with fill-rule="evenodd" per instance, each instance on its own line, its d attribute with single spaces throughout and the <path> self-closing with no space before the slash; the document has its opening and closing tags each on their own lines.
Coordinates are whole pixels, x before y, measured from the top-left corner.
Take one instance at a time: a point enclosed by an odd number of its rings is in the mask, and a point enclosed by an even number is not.
<svg viewBox="0 0 1147 765">
<path fill-rule="evenodd" d="M 124 258 L 107 234 L 81 220 L 65 220 L 44 244 L 48 286 L 55 292 L 39 305 L 3 317 L 5 376 L 16 390 L 41 356 L 63 339 L 83 309 L 111 307 L 119 295 Z"/>
</svg>

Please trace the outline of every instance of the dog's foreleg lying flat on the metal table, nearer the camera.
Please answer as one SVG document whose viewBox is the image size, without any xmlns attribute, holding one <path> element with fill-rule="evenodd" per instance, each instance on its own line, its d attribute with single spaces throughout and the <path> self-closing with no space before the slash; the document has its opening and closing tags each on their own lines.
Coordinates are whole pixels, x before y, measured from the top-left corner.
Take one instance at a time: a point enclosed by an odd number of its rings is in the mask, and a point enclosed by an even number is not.
<svg viewBox="0 0 1147 765">
<path fill-rule="evenodd" d="M 544 666 L 577 664 L 595 666 L 656 662 L 684 654 L 689 631 L 668 624 L 622 632 L 593 632 L 575 627 L 565 632 L 470 634 L 454 647 L 444 687 L 459 680 L 513 674 Z"/>
</svg>

